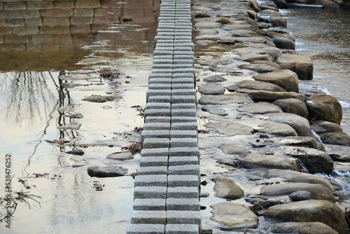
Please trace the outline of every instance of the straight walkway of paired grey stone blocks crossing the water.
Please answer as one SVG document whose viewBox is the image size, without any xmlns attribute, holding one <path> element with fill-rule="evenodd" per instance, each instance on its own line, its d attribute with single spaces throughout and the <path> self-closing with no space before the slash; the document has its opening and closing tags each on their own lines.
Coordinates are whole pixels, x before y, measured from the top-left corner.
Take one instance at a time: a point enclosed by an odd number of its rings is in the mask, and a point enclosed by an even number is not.
<svg viewBox="0 0 350 234">
<path fill-rule="evenodd" d="M 162 0 L 127 233 L 200 233 L 190 0 Z"/>
</svg>

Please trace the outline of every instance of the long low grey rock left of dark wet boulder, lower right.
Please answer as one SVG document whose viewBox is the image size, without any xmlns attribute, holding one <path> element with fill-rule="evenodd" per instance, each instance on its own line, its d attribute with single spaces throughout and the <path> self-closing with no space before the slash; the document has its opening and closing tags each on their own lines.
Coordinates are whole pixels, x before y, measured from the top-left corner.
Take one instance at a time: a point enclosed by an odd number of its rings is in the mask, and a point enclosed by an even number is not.
<svg viewBox="0 0 350 234">
<path fill-rule="evenodd" d="M 239 156 L 238 160 L 244 168 L 300 170 L 300 160 L 283 156 L 249 153 Z"/>
</svg>

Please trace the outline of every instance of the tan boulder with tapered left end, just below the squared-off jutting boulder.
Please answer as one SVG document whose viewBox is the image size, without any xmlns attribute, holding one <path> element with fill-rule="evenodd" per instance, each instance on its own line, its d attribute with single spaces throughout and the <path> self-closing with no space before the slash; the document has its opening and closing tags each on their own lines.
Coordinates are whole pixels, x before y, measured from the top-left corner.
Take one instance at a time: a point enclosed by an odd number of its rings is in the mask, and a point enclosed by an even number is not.
<svg viewBox="0 0 350 234">
<path fill-rule="evenodd" d="M 263 81 L 279 85 L 279 87 L 287 90 L 288 92 L 299 92 L 299 81 L 297 80 L 297 74 L 295 72 L 281 69 L 278 71 L 272 71 L 267 74 L 260 74 L 253 76 L 255 81 Z"/>
</svg>

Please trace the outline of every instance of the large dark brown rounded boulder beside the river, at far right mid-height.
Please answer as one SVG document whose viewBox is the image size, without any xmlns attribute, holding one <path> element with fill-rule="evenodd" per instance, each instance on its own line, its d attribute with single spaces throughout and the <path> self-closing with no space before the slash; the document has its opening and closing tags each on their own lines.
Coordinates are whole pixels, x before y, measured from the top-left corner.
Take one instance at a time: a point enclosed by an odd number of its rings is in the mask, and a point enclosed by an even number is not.
<svg viewBox="0 0 350 234">
<path fill-rule="evenodd" d="M 337 123 L 342 121 L 342 106 L 338 100 L 330 95 L 312 95 L 307 98 L 309 118 L 313 120 Z"/>
</svg>

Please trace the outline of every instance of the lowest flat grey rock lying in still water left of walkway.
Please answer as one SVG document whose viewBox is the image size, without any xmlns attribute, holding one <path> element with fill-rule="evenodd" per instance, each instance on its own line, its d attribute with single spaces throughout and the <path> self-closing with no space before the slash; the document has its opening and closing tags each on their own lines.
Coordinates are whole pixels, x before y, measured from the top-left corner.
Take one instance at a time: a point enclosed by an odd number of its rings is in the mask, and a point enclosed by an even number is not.
<svg viewBox="0 0 350 234">
<path fill-rule="evenodd" d="M 127 174 L 127 168 L 119 166 L 92 166 L 87 168 L 90 177 L 123 177 Z"/>
</svg>

